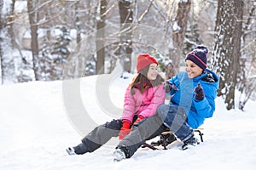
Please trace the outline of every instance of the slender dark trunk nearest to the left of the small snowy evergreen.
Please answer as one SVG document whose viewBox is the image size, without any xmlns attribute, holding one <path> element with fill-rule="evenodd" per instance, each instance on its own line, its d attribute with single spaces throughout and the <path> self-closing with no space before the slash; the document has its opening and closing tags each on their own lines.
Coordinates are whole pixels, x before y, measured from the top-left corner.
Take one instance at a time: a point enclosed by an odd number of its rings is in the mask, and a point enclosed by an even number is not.
<svg viewBox="0 0 256 170">
<path fill-rule="evenodd" d="M 27 12 L 29 18 L 29 24 L 31 29 L 31 48 L 32 48 L 32 60 L 33 60 L 33 70 L 35 74 L 35 80 L 40 79 L 40 73 L 38 69 L 38 14 L 35 10 L 34 0 L 27 0 Z"/>
</svg>

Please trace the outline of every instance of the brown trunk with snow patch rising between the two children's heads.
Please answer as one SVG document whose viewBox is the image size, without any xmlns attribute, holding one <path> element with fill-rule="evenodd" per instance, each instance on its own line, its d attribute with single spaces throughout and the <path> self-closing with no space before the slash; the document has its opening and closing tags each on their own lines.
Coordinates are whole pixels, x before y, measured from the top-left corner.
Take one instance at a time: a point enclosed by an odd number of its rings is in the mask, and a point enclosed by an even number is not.
<svg viewBox="0 0 256 170">
<path fill-rule="evenodd" d="M 189 20 L 189 11 L 191 7 L 191 0 L 179 1 L 177 8 L 177 16 L 175 18 L 172 32 L 172 41 L 174 48 L 170 50 L 170 59 L 176 71 L 179 71 L 180 59 L 183 55 L 184 37 L 187 31 L 187 24 Z"/>
</svg>

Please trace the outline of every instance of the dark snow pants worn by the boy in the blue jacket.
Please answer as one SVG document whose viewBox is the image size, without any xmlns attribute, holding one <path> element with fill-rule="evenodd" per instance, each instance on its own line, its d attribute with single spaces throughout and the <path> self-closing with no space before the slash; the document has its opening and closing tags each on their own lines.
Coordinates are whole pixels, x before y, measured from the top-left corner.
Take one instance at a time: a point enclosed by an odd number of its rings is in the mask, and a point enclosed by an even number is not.
<svg viewBox="0 0 256 170">
<path fill-rule="evenodd" d="M 183 141 L 194 135 L 193 129 L 186 122 L 186 114 L 182 108 L 174 105 L 160 105 L 158 114 L 134 126 L 131 133 L 120 141 L 117 148 L 125 150 L 125 156 L 129 158 L 145 140 L 159 136 L 160 133 L 166 131 L 167 127 Z"/>
</svg>

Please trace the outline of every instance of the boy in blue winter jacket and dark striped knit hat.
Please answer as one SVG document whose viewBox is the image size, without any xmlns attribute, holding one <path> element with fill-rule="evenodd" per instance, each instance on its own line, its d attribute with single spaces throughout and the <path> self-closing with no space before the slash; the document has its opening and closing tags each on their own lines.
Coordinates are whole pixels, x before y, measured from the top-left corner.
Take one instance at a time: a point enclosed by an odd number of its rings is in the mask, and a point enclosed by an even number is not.
<svg viewBox="0 0 256 170">
<path fill-rule="evenodd" d="M 183 141 L 182 149 L 199 144 L 193 128 L 212 117 L 218 89 L 218 77 L 207 69 L 208 49 L 196 47 L 186 55 L 186 72 L 180 72 L 166 82 L 166 93 L 172 95 L 169 105 L 160 105 L 158 114 L 149 117 L 120 141 L 114 151 L 114 161 L 131 157 L 146 139 L 152 139 L 166 128 Z"/>
</svg>

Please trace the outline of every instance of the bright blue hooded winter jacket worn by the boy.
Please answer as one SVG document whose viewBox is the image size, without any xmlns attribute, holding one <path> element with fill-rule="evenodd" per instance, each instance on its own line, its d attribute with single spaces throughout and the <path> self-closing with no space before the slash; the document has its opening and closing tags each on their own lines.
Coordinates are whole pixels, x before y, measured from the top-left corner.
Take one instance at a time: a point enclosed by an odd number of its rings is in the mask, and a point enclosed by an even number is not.
<svg viewBox="0 0 256 170">
<path fill-rule="evenodd" d="M 190 127 L 199 127 L 206 118 L 212 117 L 215 111 L 214 99 L 218 89 L 218 76 L 213 71 L 206 69 L 201 76 L 193 79 L 188 77 L 187 72 L 180 72 L 168 81 L 178 88 L 178 90 L 172 89 L 170 92 L 172 95 L 170 105 L 183 107 L 188 116 L 187 122 Z M 201 83 L 205 92 L 205 98 L 201 101 L 195 99 L 194 93 L 194 88 L 198 82 Z"/>
</svg>

